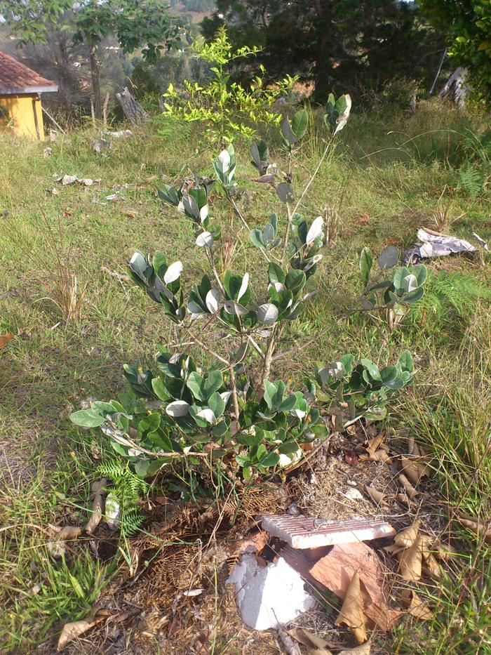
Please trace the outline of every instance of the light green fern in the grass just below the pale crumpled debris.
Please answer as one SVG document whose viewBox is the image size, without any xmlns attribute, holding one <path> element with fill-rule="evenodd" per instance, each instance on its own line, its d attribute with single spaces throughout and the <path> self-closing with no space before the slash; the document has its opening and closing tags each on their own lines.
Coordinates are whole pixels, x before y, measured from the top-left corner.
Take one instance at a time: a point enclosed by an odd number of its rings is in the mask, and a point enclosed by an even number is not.
<svg viewBox="0 0 491 655">
<path fill-rule="evenodd" d="M 412 305 L 412 316 L 422 319 L 433 315 L 442 319 L 449 307 L 459 316 L 469 315 L 476 309 L 478 300 L 491 300 L 491 289 L 475 277 L 458 271 L 430 273 L 425 293 L 419 303 Z"/>
</svg>

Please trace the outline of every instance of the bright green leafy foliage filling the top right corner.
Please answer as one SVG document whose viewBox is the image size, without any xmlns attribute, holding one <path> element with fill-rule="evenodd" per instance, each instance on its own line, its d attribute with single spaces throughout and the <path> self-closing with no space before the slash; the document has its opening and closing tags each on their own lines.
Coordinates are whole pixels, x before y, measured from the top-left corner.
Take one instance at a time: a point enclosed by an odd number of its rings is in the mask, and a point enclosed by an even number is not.
<svg viewBox="0 0 491 655">
<path fill-rule="evenodd" d="M 468 71 L 467 79 L 491 105 L 490 0 L 421 0 L 433 25 L 445 30 L 448 54 Z"/>
</svg>

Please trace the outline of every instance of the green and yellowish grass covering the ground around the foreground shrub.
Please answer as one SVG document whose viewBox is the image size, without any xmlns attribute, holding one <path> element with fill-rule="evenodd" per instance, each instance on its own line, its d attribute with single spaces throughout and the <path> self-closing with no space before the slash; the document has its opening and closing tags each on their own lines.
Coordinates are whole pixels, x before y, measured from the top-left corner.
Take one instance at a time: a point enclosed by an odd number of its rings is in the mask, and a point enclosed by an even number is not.
<svg viewBox="0 0 491 655">
<path fill-rule="evenodd" d="M 443 301 L 438 311 L 412 312 L 396 331 L 366 315 L 339 319 L 360 291 L 361 247 L 368 244 L 378 252 L 387 244 L 410 245 L 417 226 L 432 227 L 443 190 L 455 217 L 462 214 L 452 232 L 463 238 L 473 231 L 490 237 L 489 193 L 470 197 L 459 187 L 464 139 L 469 129 L 480 128 L 479 117 L 433 103 L 410 118 L 354 116 L 342 152 L 321 168 L 302 209 L 316 216 L 327 207 L 339 216 L 334 247 L 318 276 L 318 298 L 288 333 L 292 343 L 315 333 L 319 337 L 293 360 L 278 362 L 274 373 L 300 377 L 311 373 L 318 360 L 328 362 L 342 352 L 363 352 L 384 362 L 396 359 L 402 348 L 412 350 L 419 373 L 394 409 L 391 425 L 410 427 L 435 456 L 444 512 L 452 516 L 458 510 L 489 521 L 487 294 L 477 293 L 462 307 Z M 63 135 L 48 157 L 39 143 L 0 137 L 0 334 L 14 334 L 0 350 L 4 651 L 27 653 L 37 644 L 53 644 L 62 623 L 93 607 L 118 565 L 112 557 L 98 563 L 86 542 L 73 545 L 61 560 L 47 549 L 51 524 L 86 521 L 94 469 L 108 456 L 105 437 L 96 430 L 74 430 L 69 412 L 90 397 L 116 397 L 126 388 L 121 365 L 151 358 L 155 345 L 172 334 L 143 293 L 102 268 L 124 274 L 134 249 L 161 249 L 170 260 L 182 259 L 187 282 L 201 277 L 205 266 L 187 219 L 154 194 L 163 176 L 189 176 L 188 162 L 193 171 L 212 172 L 211 154 L 199 135 L 173 137 L 167 131 L 158 136 L 149 130 L 115 140 L 107 158 L 93 152 L 91 136 Z M 279 150 L 275 155 L 281 161 Z M 311 133 L 302 178 L 318 157 Z M 249 159 L 238 147 L 243 206 L 249 223 L 262 225 L 268 211 L 281 207 L 269 188 L 247 181 L 254 177 Z M 60 173 L 101 178 L 101 183 L 62 187 L 53 183 Z M 125 201 L 105 200 L 114 185 L 124 183 L 132 185 L 121 193 Z M 53 188 L 59 193 L 53 194 Z M 257 201 L 260 193 L 264 202 Z M 8 215 L 2 215 L 4 210 Z M 236 232 L 217 199 L 213 214 L 225 232 Z M 257 254 L 243 231 L 238 236 L 231 267 L 252 273 Z M 431 263 L 436 276 L 445 267 L 465 273 L 482 288 L 489 283 L 489 267 L 480 263 L 465 258 Z M 60 271 L 65 271 L 62 279 L 73 275 L 79 285 L 78 316 L 68 321 L 50 288 L 62 284 L 57 282 Z M 418 652 L 428 655 L 491 653 L 489 546 L 455 522 L 449 531 L 462 558 L 452 563 L 452 574 L 441 585 L 426 592 L 436 605 L 434 621 L 399 626 L 394 643 L 386 644 L 388 652 L 412 653 L 416 644 Z M 39 593 L 32 593 L 34 585 Z"/>
</svg>

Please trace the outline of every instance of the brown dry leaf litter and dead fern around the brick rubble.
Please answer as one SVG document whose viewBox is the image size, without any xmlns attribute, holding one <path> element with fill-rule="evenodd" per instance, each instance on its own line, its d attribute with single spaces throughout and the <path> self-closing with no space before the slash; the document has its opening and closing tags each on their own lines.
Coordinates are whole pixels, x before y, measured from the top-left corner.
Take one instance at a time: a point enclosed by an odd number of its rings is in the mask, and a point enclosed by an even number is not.
<svg viewBox="0 0 491 655">
<path fill-rule="evenodd" d="M 285 635 L 293 639 L 300 635 L 298 630 L 308 628 L 307 633 L 317 635 L 324 644 L 300 640 L 301 647 L 307 647 L 309 653 L 325 655 L 334 648 L 337 653 L 361 655 L 371 649 L 375 655 L 382 652 L 370 640 L 375 627 L 390 630 L 403 616 L 428 620 L 431 607 L 408 585 L 434 580 L 441 570 L 439 562 L 455 556 L 452 547 L 436 536 L 443 534 L 445 517 L 441 511 L 435 512 L 430 460 L 403 433 L 389 437 L 374 431 L 374 427 L 360 425 L 351 435 L 333 433 L 307 465 L 290 474 L 283 487 L 257 484 L 242 489 L 234 500 L 203 501 L 199 508 L 171 498 L 155 503 L 147 512 L 144 533 L 130 539 L 132 561 L 99 600 L 100 605 L 116 614 L 126 609 L 127 602 L 142 608 L 137 618 L 121 623 L 126 643 L 131 644 L 128 652 L 150 652 L 157 641 L 163 651 L 180 653 L 188 649 L 190 653 L 208 654 L 207 644 L 219 639 L 231 649 L 240 647 L 244 655 L 269 655 L 278 651 L 278 643 L 283 652 L 286 649 L 296 654 Z M 345 461 L 347 450 L 356 454 L 355 464 Z M 378 451 L 388 458 L 374 457 Z M 406 476 L 408 462 L 417 470 L 417 482 L 410 482 L 410 487 Z M 378 492 L 376 504 L 366 494 L 367 487 Z M 363 489 L 363 496 L 347 497 L 349 489 Z M 97 489 L 93 488 L 93 493 L 95 503 Z M 400 496 L 404 496 L 405 502 Z M 372 553 L 381 572 L 354 564 L 358 570 L 345 576 L 342 590 L 338 589 L 339 600 L 332 595 L 325 609 L 318 606 L 292 623 L 281 625 L 276 632 L 258 632 L 244 625 L 234 590 L 225 581 L 243 553 L 255 554 L 262 565 L 275 561 L 283 544 L 258 529 L 258 517 L 265 512 L 286 512 L 292 505 L 303 515 L 340 522 L 383 517 L 398 528 L 398 533 L 394 540 L 384 538 L 358 544 Z M 98 505 L 93 504 L 94 509 L 92 516 L 98 516 Z M 102 523 L 93 529 L 95 538 L 107 531 Z M 117 543 L 114 534 L 110 538 Z M 332 548 L 335 547 L 328 550 Z M 311 568 L 323 561 L 321 555 L 311 553 Z M 338 570 L 341 569 L 339 564 Z M 365 571 L 368 573 L 363 576 Z M 316 583 L 313 576 L 304 579 L 307 587 L 311 587 L 312 581 Z M 328 585 L 318 581 L 317 585 L 317 589 L 329 593 Z M 382 598 L 371 590 L 371 585 L 383 589 Z M 94 646 L 101 643 L 100 633 L 90 633 Z M 358 645 L 349 648 L 350 640 Z"/>
</svg>

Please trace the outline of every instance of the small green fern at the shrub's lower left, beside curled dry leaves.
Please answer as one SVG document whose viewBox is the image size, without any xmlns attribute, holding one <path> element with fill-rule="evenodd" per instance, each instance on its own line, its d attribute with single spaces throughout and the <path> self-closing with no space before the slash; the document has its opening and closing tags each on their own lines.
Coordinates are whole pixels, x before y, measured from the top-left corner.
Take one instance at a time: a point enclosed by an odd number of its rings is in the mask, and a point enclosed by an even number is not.
<svg viewBox="0 0 491 655">
<path fill-rule="evenodd" d="M 112 479 L 112 491 L 121 507 L 121 536 L 128 537 L 139 529 L 145 517 L 140 512 L 140 496 L 147 493 L 149 485 L 133 473 L 127 463 L 116 460 L 97 466 L 98 475 Z"/>
</svg>

